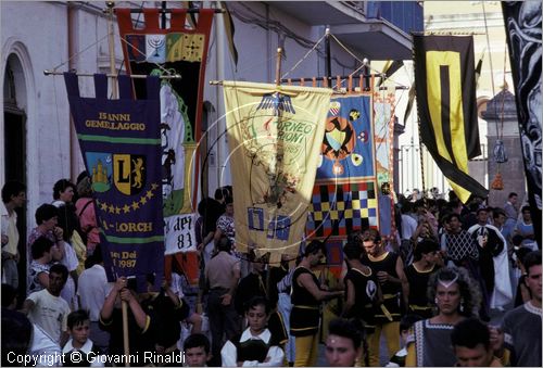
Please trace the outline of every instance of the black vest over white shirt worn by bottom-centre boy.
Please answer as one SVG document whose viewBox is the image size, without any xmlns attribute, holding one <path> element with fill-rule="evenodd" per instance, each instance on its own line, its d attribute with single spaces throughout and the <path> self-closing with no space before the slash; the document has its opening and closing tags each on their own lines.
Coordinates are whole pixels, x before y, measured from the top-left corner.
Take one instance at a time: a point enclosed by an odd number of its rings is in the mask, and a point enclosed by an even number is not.
<svg viewBox="0 0 543 368">
<path fill-rule="evenodd" d="M 238 361 L 243 361 L 243 366 L 279 367 L 283 363 L 285 353 L 268 329 L 253 337 L 248 328 L 241 335 L 225 343 L 220 356 L 223 367 L 236 367 Z M 264 361 L 266 358 L 268 361 Z"/>
</svg>

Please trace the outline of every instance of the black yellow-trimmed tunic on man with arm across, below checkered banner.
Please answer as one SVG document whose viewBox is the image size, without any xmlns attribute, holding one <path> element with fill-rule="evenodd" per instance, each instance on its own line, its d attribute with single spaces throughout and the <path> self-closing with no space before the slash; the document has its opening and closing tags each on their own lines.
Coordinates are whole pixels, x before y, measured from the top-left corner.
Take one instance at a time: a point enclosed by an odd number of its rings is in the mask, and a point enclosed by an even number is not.
<svg viewBox="0 0 543 368">
<path fill-rule="evenodd" d="M 377 275 L 379 271 L 386 271 L 392 277 L 397 278 L 396 274 L 396 261 L 397 254 L 393 252 L 387 252 L 378 258 L 370 259 L 367 255 L 364 255 L 362 258 L 362 263 Z M 384 308 L 381 308 L 376 314 L 376 323 L 388 323 L 391 321 L 399 321 L 401 318 L 401 293 L 402 285 L 395 282 L 384 282 L 381 283 L 382 291 L 382 305 L 384 306 L 387 312 L 383 312 Z M 390 314 L 390 316 L 389 316 Z M 390 319 L 392 318 L 392 319 Z"/>
</svg>

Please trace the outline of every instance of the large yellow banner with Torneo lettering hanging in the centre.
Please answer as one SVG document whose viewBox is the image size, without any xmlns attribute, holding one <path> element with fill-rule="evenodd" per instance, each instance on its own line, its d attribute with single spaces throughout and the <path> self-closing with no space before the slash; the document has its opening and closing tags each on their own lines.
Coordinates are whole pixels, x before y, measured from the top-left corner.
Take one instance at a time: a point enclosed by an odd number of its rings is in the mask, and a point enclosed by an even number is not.
<svg viewBox="0 0 543 368">
<path fill-rule="evenodd" d="M 331 89 L 225 81 L 236 248 L 298 255 Z"/>
</svg>

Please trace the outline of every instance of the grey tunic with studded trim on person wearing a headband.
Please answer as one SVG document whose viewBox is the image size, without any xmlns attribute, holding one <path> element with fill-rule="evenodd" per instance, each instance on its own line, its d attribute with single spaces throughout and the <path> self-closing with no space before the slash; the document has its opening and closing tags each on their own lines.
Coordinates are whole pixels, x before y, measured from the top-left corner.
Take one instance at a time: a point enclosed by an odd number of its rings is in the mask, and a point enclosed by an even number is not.
<svg viewBox="0 0 543 368">
<path fill-rule="evenodd" d="M 413 328 L 413 335 L 407 338 L 406 365 L 413 363 L 412 354 L 415 354 L 416 367 L 453 367 L 456 364 L 451 345 L 453 325 L 430 323 L 430 319 L 424 319 Z"/>
</svg>

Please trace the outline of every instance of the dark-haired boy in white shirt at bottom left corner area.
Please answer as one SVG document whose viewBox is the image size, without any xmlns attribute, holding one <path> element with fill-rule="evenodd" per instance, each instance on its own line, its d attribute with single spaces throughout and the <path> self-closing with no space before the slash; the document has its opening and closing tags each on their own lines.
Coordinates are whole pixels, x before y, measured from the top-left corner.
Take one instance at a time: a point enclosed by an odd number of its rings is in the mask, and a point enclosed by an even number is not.
<svg viewBox="0 0 543 368">
<path fill-rule="evenodd" d="M 72 312 L 67 317 L 71 339 L 64 345 L 64 365 L 68 367 L 103 367 L 100 350 L 89 339 L 90 318 L 87 310 Z"/>
</svg>

